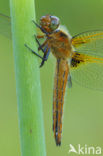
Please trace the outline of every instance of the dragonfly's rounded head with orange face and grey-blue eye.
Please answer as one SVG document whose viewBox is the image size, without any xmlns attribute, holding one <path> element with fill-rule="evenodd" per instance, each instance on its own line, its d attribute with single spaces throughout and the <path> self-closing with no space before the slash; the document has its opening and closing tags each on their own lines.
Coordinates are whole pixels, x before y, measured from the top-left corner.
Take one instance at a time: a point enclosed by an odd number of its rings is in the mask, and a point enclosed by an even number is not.
<svg viewBox="0 0 103 156">
<path fill-rule="evenodd" d="M 52 33 L 60 24 L 60 20 L 56 16 L 45 15 L 40 18 L 40 26 L 47 32 Z"/>
</svg>

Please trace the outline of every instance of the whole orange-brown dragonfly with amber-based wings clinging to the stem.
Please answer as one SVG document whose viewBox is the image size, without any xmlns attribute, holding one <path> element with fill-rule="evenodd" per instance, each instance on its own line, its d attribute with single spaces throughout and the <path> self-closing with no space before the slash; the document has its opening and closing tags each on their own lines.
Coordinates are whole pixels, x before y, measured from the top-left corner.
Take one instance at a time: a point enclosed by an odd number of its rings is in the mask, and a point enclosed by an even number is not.
<svg viewBox="0 0 103 156">
<path fill-rule="evenodd" d="M 11 38 L 10 18 L 5 18 Z M 4 21 L 4 20 L 2 20 Z M 38 51 L 43 56 L 32 50 L 27 44 L 26 48 L 42 59 L 40 67 L 48 60 L 52 53 L 56 58 L 56 68 L 53 89 L 53 133 L 57 146 L 61 145 L 63 105 L 66 86 L 72 87 L 73 82 L 84 87 L 103 91 L 103 30 L 85 31 L 71 36 L 67 28 L 60 24 L 56 16 L 45 15 L 40 18 L 40 23 L 33 23 L 41 30 L 43 35 L 35 36 L 39 45 Z M 7 29 L 6 29 L 7 30 Z M 3 32 L 3 31 L 2 31 Z M 44 42 L 40 44 L 39 40 Z"/>
</svg>

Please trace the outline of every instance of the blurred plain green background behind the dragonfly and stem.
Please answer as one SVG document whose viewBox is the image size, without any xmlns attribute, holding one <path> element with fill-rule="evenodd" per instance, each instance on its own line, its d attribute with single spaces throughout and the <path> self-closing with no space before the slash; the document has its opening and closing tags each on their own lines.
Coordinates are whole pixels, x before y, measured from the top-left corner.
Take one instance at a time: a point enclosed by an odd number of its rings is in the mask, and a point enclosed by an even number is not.
<svg viewBox="0 0 103 156">
<path fill-rule="evenodd" d="M 0 12 L 9 14 L 8 0 L 0 1 Z M 61 19 L 70 34 L 103 28 L 103 0 L 36 0 L 37 21 L 52 14 Z M 12 42 L 0 36 L 0 155 L 20 156 Z M 62 145 L 56 147 L 52 132 L 53 75 L 50 56 L 40 69 L 47 156 L 68 154 L 69 144 L 103 148 L 103 93 L 73 83 L 67 88 L 63 116 Z M 39 68 L 38 68 L 39 70 Z M 103 153 L 103 152 L 102 152 Z"/>
</svg>

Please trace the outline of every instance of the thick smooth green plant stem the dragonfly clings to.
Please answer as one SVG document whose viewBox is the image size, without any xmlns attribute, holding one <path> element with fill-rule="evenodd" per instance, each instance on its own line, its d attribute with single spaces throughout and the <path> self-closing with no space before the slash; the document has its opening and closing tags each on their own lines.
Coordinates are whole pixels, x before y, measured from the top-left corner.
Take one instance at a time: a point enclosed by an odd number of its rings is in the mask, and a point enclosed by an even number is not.
<svg viewBox="0 0 103 156">
<path fill-rule="evenodd" d="M 10 0 L 16 92 L 22 156 L 45 156 L 40 73 L 37 51 L 34 0 Z"/>
</svg>

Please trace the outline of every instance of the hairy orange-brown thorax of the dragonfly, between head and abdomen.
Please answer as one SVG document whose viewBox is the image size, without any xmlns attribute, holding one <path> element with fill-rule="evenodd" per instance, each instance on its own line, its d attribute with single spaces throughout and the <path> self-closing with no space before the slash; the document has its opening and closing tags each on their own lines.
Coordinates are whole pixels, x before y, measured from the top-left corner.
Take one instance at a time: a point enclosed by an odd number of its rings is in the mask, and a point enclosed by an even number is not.
<svg viewBox="0 0 103 156">
<path fill-rule="evenodd" d="M 72 54 L 71 39 L 61 30 L 49 35 L 48 44 L 56 58 L 68 59 Z"/>
</svg>

